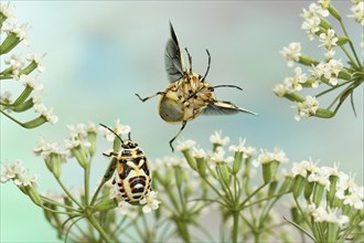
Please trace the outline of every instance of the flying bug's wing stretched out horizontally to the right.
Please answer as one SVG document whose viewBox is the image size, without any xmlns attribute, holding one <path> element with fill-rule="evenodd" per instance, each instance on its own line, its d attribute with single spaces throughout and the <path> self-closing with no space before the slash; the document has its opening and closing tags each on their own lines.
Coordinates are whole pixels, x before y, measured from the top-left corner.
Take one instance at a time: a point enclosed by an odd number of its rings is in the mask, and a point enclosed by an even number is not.
<svg viewBox="0 0 364 243">
<path fill-rule="evenodd" d="M 203 115 L 233 115 L 236 113 L 247 113 L 257 116 L 258 114 L 248 109 L 240 108 L 231 102 L 216 101 L 210 103 L 206 108 L 203 109 Z"/>
</svg>

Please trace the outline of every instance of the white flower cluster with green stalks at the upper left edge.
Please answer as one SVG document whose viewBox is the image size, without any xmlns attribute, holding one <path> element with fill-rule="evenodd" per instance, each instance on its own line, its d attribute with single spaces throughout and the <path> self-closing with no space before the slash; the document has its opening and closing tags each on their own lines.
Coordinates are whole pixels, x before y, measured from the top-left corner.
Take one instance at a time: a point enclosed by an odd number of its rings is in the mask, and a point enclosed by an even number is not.
<svg viewBox="0 0 364 243">
<path fill-rule="evenodd" d="M 28 54 L 24 59 L 20 54 L 10 53 L 20 42 L 29 45 L 26 40 L 28 24 L 18 24 L 17 19 L 12 14 L 10 2 L 0 7 L 0 55 L 4 56 L 3 62 L 6 68 L 0 70 L 0 80 L 14 80 L 24 86 L 23 92 L 15 98 L 11 99 L 11 93 L 4 92 L 0 94 L 0 112 L 11 120 L 22 127 L 34 128 L 44 123 L 55 124 L 58 118 L 53 114 L 53 108 L 47 109 L 41 102 L 41 91 L 43 85 L 36 80 L 39 75 L 45 71 L 42 65 L 43 56 Z M 6 36 L 6 38 L 3 38 Z M 33 71 L 38 74 L 32 74 Z M 3 82 L 3 81 L 2 81 Z M 33 108 L 39 114 L 38 118 L 22 123 L 10 115 L 11 112 L 21 113 Z"/>
</svg>

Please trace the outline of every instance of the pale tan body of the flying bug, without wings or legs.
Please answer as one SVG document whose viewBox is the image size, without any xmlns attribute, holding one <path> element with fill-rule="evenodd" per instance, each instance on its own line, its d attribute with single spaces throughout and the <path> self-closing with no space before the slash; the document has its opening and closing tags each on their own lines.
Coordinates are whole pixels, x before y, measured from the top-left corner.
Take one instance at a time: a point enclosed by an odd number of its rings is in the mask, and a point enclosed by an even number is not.
<svg viewBox="0 0 364 243">
<path fill-rule="evenodd" d="M 191 120 L 215 101 L 213 88 L 196 73 L 184 72 L 184 77 L 170 84 L 160 99 L 159 114 L 168 123 Z"/>
</svg>

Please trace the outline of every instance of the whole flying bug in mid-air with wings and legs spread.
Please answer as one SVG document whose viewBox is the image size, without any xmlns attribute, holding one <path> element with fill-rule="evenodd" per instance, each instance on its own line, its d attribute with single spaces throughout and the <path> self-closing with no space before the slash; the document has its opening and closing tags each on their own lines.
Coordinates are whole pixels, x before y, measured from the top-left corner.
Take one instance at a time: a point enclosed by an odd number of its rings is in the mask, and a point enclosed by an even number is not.
<svg viewBox="0 0 364 243">
<path fill-rule="evenodd" d="M 211 55 L 206 49 L 208 64 L 205 74 L 202 76 L 192 72 L 192 57 L 185 49 L 189 57 L 190 68 L 184 65 L 183 55 L 176 39 L 176 34 L 170 22 L 171 38 L 168 40 L 164 52 L 164 66 L 170 85 L 163 92 L 157 92 L 148 97 L 140 97 L 141 102 L 146 102 L 152 97 L 161 95 L 159 102 L 159 115 L 163 120 L 171 124 L 182 124 L 179 133 L 170 140 L 172 151 L 173 141 L 184 129 L 188 122 L 202 115 L 232 115 L 236 113 L 247 113 L 257 115 L 254 112 L 236 106 L 226 101 L 217 101 L 215 88 L 217 87 L 234 87 L 243 91 L 235 85 L 216 85 L 212 86 L 207 83 L 206 76 L 211 66 Z"/>
</svg>

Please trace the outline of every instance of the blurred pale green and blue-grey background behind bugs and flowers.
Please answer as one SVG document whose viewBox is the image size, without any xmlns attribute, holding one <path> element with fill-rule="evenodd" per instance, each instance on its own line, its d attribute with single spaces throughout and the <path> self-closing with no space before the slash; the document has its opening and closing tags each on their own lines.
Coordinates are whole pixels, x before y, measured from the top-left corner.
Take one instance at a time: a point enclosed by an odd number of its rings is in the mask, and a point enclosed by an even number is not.
<svg viewBox="0 0 364 243">
<path fill-rule="evenodd" d="M 333 2 L 343 17 L 350 14 L 349 0 Z M 188 124 L 181 138 L 210 149 L 210 135 L 222 129 L 233 144 L 243 137 L 258 148 L 272 150 L 278 146 L 287 152 L 290 163 L 309 158 L 320 160 L 321 166 L 341 162 L 341 170 L 355 173 L 356 182 L 363 184 L 363 87 L 355 93 L 357 117 L 345 103 L 333 119 L 299 123 L 293 119 L 292 103 L 272 93 L 275 84 L 293 74 L 279 54 L 282 46 L 299 41 L 303 53 L 323 56 L 317 47 L 319 43 L 310 42 L 300 28 L 302 8 L 308 9 L 309 3 L 12 1 L 19 22 L 32 27 L 28 33 L 31 46 L 20 46 L 14 52 L 47 53 L 43 60 L 46 72 L 39 81 L 45 86 L 45 105 L 54 106 L 60 122 L 25 130 L 0 116 L 1 162 L 21 159 L 31 173 L 40 175 L 42 192 L 58 190 L 42 159 L 32 154 L 39 136 L 63 145 L 68 135 L 66 125 L 92 120 L 113 126 L 118 117 L 131 126 L 133 140 L 150 160 L 171 156 L 168 141 L 180 126 L 165 124 L 159 117 L 158 98 L 143 104 L 135 93 L 147 96 L 167 87 L 163 53 L 172 21 L 181 47 L 188 46 L 192 54 L 195 72 L 205 72 L 207 47 L 212 55 L 210 83 L 244 87 L 244 92 L 218 89 L 217 97 L 259 113 L 258 117 L 199 117 Z M 353 19 L 344 19 L 360 50 L 362 28 Z M 18 83 L 1 82 L 1 92 L 10 89 L 15 96 L 21 88 Z M 30 117 L 34 117 L 32 112 L 18 118 Z M 99 154 L 107 146 L 103 141 Z M 105 158 L 96 157 L 94 184 L 106 165 Z M 63 170 L 63 180 L 74 191 L 83 180 L 81 172 L 75 161 Z M 1 242 L 58 242 L 43 212 L 12 183 L 1 184 L 0 189 Z"/>
</svg>

